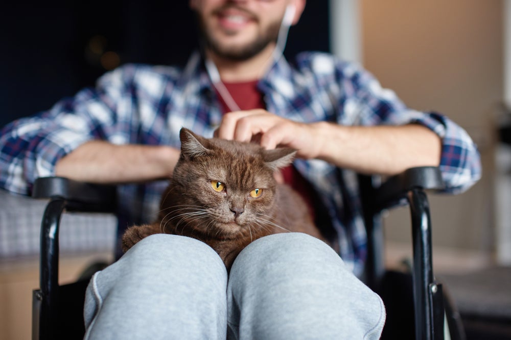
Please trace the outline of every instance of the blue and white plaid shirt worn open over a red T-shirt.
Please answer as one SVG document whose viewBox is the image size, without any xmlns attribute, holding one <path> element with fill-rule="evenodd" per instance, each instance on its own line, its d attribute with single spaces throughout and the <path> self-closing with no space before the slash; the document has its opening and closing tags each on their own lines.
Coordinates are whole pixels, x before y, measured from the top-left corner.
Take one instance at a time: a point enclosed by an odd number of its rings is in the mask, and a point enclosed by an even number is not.
<svg viewBox="0 0 511 340">
<path fill-rule="evenodd" d="M 258 88 L 269 112 L 294 121 L 427 126 L 443 140 L 446 192 L 464 191 L 481 175 L 477 148 L 462 128 L 445 116 L 406 108 L 356 64 L 320 53 L 300 54 L 293 66 L 281 58 Z M 199 54 L 184 69 L 125 65 L 103 75 L 96 88 L 7 125 L 0 135 L 0 187 L 29 194 L 35 178 L 54 175 L 56 162 L 89 140 L 179 147 L 182 126 L 210 137 L 221 119 Z M 356 173 L 320 160 L 294 165 L 318 193 L 343 260 L 361 274 L 366 234 Z M 120 225 L 151 220 L 166 186 L 166 181 L 120 186 Z"/>
</svg>

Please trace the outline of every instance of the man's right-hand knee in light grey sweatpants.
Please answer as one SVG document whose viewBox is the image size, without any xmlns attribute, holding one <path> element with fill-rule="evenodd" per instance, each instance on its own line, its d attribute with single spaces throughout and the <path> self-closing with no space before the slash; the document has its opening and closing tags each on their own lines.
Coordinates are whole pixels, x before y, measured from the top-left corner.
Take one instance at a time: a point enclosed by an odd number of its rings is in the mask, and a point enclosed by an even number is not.
<svg viewBox="0 0 511 340">
<path fill-rule="evenodd" d="M 240 253 L 230 275 L 229 304 L 252 320 L 242 322 L 240 332 L 260 338 L 293 332 L 297 337 L 345 333 L 354 335 L 347 338 L 373 338 L 367 335 L 381 332 L 381 299 L 332 248 L 311 236 L 288 233 L 259 239 Z M 236 324 L 236 315 L 230 317 Z"/>
</svg>

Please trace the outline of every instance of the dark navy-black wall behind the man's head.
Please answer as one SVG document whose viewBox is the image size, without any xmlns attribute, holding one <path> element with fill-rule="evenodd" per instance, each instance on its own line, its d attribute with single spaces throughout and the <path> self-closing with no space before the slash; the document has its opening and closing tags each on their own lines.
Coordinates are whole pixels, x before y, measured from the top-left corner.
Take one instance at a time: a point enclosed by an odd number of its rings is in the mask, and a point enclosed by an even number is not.
<svg viewBox="0 0 511 340">
<path fill-rule="evenodd" d="M 183 64 L 196 36 L 183 0 L 5 4 L 0 10 L 0 126 L 94 85 L 112 65 Z M 307 2 L 291 28 L 285 55 L 301 50 L 329 50 L 327 0 Z"/>
</svg>

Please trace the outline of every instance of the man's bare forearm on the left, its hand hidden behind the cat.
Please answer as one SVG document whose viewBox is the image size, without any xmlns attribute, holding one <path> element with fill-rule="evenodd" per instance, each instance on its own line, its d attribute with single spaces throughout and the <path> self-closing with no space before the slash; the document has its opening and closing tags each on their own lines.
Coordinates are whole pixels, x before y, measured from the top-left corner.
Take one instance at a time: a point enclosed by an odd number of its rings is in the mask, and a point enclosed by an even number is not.
<svg viewBox="0 0 511 340">
<path fill-rule="evenodd" d="M 139 182 L 169 177 L 179 150 L 168 146 L 90 141 L 62 158 L 57 176 L 94 183 Z"/>
</svg>

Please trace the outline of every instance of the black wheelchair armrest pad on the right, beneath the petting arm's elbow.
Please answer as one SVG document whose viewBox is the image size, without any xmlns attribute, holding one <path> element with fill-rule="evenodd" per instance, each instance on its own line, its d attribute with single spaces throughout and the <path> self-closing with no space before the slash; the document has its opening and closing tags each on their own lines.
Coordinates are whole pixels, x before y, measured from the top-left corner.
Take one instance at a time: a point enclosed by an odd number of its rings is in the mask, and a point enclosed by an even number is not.
<svg viewBox="0 0 511 340">
<path fill-rule="evenodd" d="M 445 184 L 438 167 L 415 167 L 387 178 L 376 188 L 373 197 L 373 211 L 379 212 L 405 199 L 413 189 L 442 190 Z"/>
</svg>

